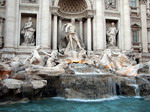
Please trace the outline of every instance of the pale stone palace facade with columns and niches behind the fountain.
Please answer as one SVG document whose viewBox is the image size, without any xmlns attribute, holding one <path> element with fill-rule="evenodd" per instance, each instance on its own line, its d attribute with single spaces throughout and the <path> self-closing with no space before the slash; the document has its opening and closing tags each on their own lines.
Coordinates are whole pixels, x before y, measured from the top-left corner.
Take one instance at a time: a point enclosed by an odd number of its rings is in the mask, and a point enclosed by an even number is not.
<svg viewBox="0 0 150 112">
<path fill-rule="evenodd" d="M 150 0 L 0 0 L 2 57 L 23 59 L 37 45 L 58 50 L 71 18 L 87 51 L 109 47 L 113 23 L 116 48 L 149 55 Z"/>
</svg>

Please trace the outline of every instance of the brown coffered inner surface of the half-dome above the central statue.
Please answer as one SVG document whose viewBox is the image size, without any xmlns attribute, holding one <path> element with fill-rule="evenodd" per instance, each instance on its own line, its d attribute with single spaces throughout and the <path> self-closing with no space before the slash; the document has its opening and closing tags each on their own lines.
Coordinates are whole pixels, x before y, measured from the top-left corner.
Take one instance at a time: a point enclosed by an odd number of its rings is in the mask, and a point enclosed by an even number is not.
<svg viewBox="0 0 150 112">
<path fill-rule="evenodd" d="M 66 13 L 79 13 L 87 9 L 85 0 L 59 0 L 58 6 Z"/>
</svg>

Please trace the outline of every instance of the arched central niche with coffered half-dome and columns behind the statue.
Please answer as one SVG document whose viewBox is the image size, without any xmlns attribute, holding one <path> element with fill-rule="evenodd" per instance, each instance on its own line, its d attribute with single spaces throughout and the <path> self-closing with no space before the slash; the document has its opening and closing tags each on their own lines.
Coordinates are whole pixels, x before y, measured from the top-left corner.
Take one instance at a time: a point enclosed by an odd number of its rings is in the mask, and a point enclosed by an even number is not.
<svg viewBox="0 0 150 112">
<path fill-rule="evenodd" d="M 58 48 L 59 41 L 64 37 L 62 26 L 70 22 L 71 18 L 76 19 L 77 33 L 87 50 L 92 50 L 94 11 L 89 0 L 55 0 L 52 6 L 52 15 L 52 44 L 54 50 Z"/>
</svg>

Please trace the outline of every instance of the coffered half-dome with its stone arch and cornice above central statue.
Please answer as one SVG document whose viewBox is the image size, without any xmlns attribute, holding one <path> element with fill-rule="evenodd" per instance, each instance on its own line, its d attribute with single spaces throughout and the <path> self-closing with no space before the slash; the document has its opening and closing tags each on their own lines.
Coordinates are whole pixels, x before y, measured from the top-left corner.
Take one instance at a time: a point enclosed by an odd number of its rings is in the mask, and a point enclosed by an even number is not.
<svg viewBox="0 0 150 112">
<path fill-rule="evenodd" d="M 66 19 L 79 19 L 93 16 L 94 11 L 89 0 L 55 0 L 52 6 L 52 14 L 57 14 L 59 17 Z"/>
</svg>

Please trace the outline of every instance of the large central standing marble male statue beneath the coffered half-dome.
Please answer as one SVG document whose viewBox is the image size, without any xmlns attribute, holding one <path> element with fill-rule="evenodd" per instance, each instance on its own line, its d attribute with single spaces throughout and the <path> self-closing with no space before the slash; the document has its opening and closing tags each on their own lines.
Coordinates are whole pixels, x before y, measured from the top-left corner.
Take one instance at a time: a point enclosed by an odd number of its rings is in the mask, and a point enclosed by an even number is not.
<svg viewBox="0 0 150 112">
<path fill-rule="evenodd" d="M 76 32 L 74 18 L 71 19 L 71 23 L 67 23 L 63 26 L 63 31 L 65 32 L 65 39 L 67 40 L 67 42 L 65 43 L 67 44 L 65 47 L 65 52 L 76 51 L 78 49 L 83 50 L 83 45 L 81 45 L 82 43 L 80 42 L 80 39 Z"/>
</svg>

